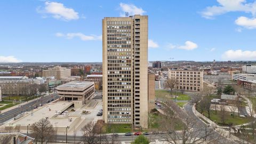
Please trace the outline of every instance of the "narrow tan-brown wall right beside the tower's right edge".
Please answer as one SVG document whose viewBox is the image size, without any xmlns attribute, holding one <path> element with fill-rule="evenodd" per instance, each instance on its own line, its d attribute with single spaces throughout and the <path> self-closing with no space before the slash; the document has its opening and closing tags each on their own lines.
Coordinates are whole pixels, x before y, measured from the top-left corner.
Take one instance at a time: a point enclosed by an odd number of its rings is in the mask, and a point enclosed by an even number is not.
<svg viewBox="0 0 256 144">
<path fill-rule="evenodd" d="M 148 111 L 155 108 L 155 74 L 148 73 Z"/>
</svg>

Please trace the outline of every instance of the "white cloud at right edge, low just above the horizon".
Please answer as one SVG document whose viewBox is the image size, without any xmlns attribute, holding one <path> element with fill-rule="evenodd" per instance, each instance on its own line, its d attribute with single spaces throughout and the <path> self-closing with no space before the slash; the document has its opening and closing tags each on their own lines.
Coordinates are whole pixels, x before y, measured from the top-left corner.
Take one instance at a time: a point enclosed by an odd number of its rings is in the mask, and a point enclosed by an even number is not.
<svg viewBox="0 0 256 144">
<path fill-rule="evenodd" d="M 228 50 L 222 54 L 223 60 L 256 60 L 256 51 Z"/>
</svg>

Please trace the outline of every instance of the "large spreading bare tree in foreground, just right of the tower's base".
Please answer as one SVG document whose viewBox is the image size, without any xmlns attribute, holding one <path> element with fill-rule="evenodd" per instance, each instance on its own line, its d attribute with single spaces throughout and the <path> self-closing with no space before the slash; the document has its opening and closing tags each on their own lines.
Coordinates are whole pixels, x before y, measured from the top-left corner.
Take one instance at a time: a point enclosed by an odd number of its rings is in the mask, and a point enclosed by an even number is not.
<svg viewBox="0 0 256 144">
<path fill-rule="evenodd" d="M 174 123 L 177 115 L 170 115 L 170 109 L 166 109 L 165 117 L 159 120 L 160 130 L 164 132 L 161 137 L 163 141 L 180 144 L 180 143 L 215 143 L 221 140 L 223 137 L 217 134 L 212 128 L 207 125 L 202 125 L 197 119 L 186 115 L 186 118 L 181 118 L 183 122 L 180 131 L 175 128 L 177 124 Z M 181 116 L 179 116 L 180 118 Z"/>
</svg>

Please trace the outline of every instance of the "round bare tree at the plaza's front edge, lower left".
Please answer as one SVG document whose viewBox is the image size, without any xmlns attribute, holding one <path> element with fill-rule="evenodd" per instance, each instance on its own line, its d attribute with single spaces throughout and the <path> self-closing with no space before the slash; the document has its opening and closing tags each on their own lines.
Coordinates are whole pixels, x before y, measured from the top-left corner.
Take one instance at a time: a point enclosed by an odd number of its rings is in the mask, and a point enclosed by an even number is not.
<svg viewBox="0 0 256 144">
<path fill-rule="evenodd" d="M 32 137 L 35 142 L 48 143 L 54 138 L 54 129 L 50 121 L 46 118 L 40 119 L 31 125 Z"/>
</svg>

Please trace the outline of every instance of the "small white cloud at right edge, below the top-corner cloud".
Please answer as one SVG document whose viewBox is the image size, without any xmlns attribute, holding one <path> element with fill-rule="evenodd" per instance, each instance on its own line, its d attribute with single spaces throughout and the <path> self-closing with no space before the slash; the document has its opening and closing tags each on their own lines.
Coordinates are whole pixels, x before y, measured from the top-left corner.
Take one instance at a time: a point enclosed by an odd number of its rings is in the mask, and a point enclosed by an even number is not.
<svg viewBox="0 0 256 144">
<path fill-rule="evenodd" d="M 236 19 L 236 25 L 245 27 L 247 29 L 256 28 L 256 18 L 239 17 Z"/>
</svg>

